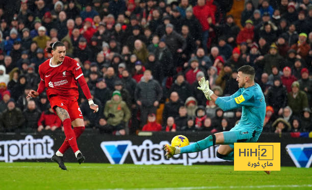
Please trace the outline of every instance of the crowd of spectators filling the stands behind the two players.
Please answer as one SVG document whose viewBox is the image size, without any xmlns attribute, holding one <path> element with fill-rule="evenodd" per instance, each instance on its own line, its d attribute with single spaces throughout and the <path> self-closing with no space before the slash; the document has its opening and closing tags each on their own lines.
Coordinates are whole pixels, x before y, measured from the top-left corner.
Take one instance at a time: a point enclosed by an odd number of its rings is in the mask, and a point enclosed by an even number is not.
<svg viewBox="0 0 312 190">
<path fill-rule="evenodd" d="M 0 132 L 62 130 L 45 92 L 26 98 L 55 41 L 99 105 L 92 113 L 80 90 L 90 130 L 227 131 L 242 110 L 222 111 L 197 82 L 228 96 L 251 65 L 267 102 L 263 130 L 312 131 L 310 0 L 10 0 L 0 22 Z"/>
</svg>

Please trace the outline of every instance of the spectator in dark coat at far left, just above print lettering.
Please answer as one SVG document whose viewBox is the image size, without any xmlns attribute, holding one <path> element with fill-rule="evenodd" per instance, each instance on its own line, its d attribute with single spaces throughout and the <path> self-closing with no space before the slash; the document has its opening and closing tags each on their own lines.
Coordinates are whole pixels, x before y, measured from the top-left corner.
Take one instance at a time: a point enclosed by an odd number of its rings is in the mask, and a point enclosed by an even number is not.
<svg viewBox="0 0 312 190">
<path fill-rule="evenodd" d="M 15 101 L 9 100 L 8 108 L 1 115 L 0 128 L 2 132 L 18 132 L 24 124 L 25 118 L 19 108 L 15 107 Z"/>
</svg>

